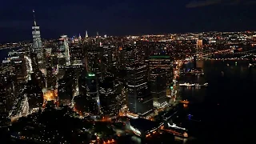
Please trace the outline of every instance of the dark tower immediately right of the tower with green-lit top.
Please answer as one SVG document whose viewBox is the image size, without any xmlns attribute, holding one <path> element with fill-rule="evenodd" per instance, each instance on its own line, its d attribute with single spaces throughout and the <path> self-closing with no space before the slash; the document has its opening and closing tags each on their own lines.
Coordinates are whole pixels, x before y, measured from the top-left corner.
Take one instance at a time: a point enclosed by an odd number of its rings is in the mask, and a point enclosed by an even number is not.
<svg viewBox="0 0 256 144">
<path fill-rule="evenodd" d="M 117 87 L 114 82 L 114 75 L 104 74 L 102 82 L 99 84 L 99 99 L 101 102 L 101 111 L 104 115 L 116 116 L 120 109 L 120 103 L 117 99 Z"/>
</svg>

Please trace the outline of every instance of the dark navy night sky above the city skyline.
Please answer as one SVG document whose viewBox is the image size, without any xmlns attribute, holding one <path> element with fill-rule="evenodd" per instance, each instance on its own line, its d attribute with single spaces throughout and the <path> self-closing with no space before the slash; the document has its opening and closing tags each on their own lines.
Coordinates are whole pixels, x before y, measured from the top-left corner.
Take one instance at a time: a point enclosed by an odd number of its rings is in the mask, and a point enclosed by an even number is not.
<svg viewBox="0 0 256 144">
<path fill-rule="evenodd" d="M 254 0 L 2 0 L 0 42 L 42 38 L 256 30 Z"/>
</svg>

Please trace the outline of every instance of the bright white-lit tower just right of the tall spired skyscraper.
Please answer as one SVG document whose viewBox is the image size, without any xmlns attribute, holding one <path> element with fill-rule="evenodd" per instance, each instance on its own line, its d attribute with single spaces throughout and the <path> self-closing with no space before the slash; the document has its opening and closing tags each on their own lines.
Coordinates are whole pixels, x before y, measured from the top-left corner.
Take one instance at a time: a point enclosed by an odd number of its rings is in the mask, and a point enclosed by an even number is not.
<svg viewBox="0 0 256 144">
<path fill-rule="evenodd" d="M 58 39 L 58 65 L 60 68 L 70 66 L 70 49 L 68 45 L 68 38 L 66 35 L 62 35 Z"/>
</svg>

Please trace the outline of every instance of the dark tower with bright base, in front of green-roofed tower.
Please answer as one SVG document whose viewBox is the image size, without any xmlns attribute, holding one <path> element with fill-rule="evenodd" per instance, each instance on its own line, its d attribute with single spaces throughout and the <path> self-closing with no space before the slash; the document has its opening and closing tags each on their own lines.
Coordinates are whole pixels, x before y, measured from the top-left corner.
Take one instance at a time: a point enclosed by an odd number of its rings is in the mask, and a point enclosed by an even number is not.
<svg viewBox="0 0 256 144">
<path fill-rule="evenodd" d="M 154 107 L 160 108 L 167 104 L 165 70 L 159 68 L 150 70 L 150 91 Z"/>
</svg>

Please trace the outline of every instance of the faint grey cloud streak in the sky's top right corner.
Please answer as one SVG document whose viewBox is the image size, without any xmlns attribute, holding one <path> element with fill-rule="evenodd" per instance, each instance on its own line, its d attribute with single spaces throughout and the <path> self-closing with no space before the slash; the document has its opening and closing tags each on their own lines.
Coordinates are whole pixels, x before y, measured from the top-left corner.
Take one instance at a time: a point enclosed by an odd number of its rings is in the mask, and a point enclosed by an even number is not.
<svg viewBox="0 0 256 144">
<path fill-rule="evenodd" d="M 212 5 L 253 5 L 256 4 L 255 0 L 193 0 L 186 4 L 186 8 L 195 8 Z"/>
</svg>

